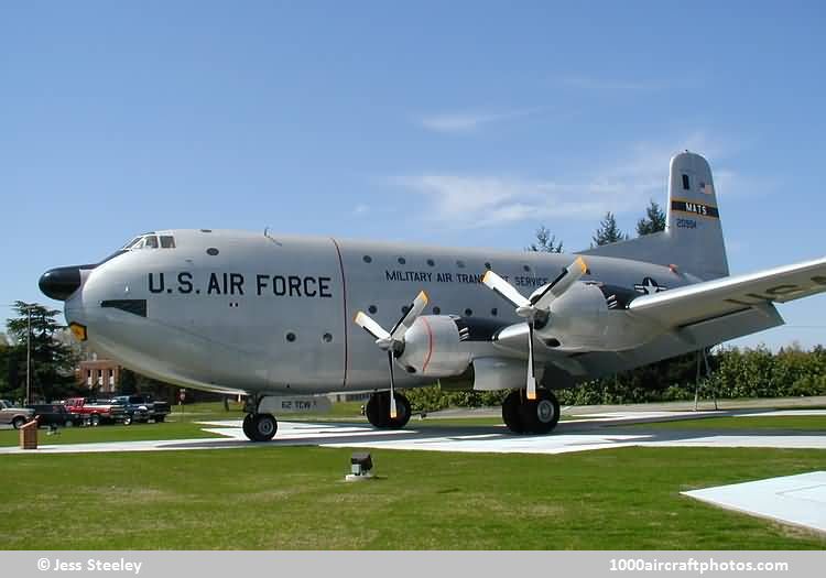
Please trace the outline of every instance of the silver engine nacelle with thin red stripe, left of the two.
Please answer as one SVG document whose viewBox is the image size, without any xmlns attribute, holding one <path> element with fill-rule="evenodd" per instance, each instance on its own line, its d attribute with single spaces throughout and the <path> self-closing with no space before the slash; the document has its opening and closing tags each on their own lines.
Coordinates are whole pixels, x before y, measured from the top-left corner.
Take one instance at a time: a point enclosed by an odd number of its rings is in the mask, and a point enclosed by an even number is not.
<svg viewBox="0 0 826 578">
<path fill-rule="evenodd" d="M 396 362 L 407 373 L 449 378 L 464 373 L 470 359 L 453 317 L 423 315 L 405 331 L 404 350 Z"/>
</svg>

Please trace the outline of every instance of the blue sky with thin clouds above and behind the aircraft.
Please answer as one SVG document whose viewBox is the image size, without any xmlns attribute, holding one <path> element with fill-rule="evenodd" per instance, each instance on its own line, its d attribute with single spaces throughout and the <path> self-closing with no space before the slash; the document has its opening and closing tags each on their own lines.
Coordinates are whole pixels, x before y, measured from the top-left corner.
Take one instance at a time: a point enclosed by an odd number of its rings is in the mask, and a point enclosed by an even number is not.
<svg viewBox="0 0 826 578">
<path fill-rule="evenodd" d="M 822 2 L 0 3 L 0 315 L 157 228 L 520 249 L 682 149 L 735 273 L 826 254 Z M 55 305 L 58 305 L 55 303 Z M 740 340 L 826 341 L 826 296 Z"/>
</svg>

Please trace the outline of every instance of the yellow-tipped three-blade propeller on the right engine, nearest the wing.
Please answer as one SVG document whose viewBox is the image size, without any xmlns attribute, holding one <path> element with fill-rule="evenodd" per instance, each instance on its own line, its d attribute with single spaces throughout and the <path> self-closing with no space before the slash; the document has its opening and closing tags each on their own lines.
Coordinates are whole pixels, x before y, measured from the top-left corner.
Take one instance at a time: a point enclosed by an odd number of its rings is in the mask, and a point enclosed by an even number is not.
<svg viewBox="0 0 826 578">
<path fill-rule="evenodd" d="M 576 261 L 563 269 L 555 280 L 537 288 L 530 297 L 524 297 L 517 287 L 492 271 L 488 271 L 482 277 L 482 283 L 513 304 L 517 308 L 517 315 L 525 319 L 528 324 L 528 382 L 525 390 L 529 400 L 536 399 L 536 377 L 533 364 L 533 334 L 536 320 L 544 321 L 547 319 L 554 299 L 568 291 L 587 271 L 588 265 L 585 264 L 585 260 L 578 257 Z"/>
</svg>

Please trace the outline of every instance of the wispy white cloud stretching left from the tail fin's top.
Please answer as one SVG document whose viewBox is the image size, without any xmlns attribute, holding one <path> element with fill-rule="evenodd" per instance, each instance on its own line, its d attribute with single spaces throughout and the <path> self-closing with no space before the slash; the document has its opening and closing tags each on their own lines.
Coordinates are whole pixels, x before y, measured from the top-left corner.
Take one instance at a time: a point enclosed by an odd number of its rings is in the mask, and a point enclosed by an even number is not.
<svg viewBox="0 0 826 578">
<path fill-rule="evenodd" d="M 688 149 L 721 155 L 722 148 L 703 132 L 688 134 L 680 146 L 638 143 L 630 154 L 596 166 L 584 176 L 562 179 L 529 179 L 485 174 L 425 173 L 394 179 L 426 198 L 423 218 L 475 228 L 520 221 L 568 218 L 594 220 L 607 211 L 617 215 L 639 212 L 649 199 L 665 201 L 669 162 Z M 721 171 L 726 187 L 737 175 Z M 719 189 L 718 185 L 718 189 Z M 724 189 L 725 190 L 725 189 Z"/>
</svg>

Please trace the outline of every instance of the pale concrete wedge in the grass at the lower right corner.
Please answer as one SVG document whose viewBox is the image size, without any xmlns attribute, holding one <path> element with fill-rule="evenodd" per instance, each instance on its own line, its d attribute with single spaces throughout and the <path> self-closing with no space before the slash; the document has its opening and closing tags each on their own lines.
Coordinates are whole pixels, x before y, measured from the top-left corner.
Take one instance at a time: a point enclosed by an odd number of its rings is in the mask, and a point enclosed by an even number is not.
<svg viewBox="0 0 826 578">
<path fill-rule="evenodd" d="M 681 493 L 727 510 L 826 533 L 826 471 Z"/>
</svg>

